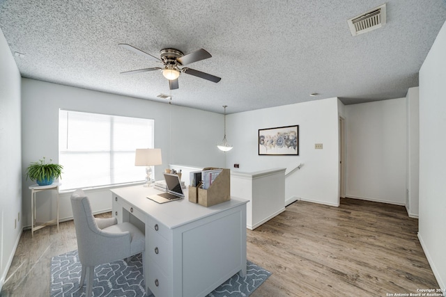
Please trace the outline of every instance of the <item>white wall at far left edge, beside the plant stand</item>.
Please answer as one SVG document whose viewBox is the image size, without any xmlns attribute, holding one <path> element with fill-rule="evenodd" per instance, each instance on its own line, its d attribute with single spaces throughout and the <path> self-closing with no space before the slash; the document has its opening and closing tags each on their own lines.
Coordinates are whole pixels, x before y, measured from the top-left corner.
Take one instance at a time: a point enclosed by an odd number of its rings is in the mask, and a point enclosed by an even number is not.
<svg viewBox="0 0 446 297">
<path fill-rule="evenodd" d="M 21 153 L 20 72 L 0 30 L 0 291 L 22 234 Z"/>
</svg>

